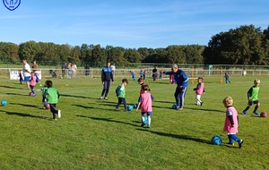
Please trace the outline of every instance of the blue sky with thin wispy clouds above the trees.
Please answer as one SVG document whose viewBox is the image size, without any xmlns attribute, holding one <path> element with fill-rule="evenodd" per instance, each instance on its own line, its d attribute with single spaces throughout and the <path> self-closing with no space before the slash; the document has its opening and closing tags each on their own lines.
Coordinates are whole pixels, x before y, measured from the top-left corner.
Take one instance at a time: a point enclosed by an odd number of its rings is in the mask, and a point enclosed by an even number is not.
<svg viewBox="0 0 269 170">
<path fill-rule="evenodd" d="M 13 0 L 18 4 L 20 0 Z M 221 32 L 269 26 L 268 0 L 0 1 L 0 41 L 159 48 L 207 45 Z"/>
</svg>

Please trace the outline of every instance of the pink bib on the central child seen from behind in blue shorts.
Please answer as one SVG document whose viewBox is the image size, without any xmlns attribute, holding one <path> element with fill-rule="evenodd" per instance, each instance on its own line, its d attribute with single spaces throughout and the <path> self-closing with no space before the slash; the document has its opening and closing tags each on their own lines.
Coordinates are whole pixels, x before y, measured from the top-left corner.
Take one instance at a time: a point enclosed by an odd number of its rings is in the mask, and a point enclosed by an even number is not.
<svg viewBox="0 0 269 170">
<path fill-rule="evenodd" d="M 152 112 L 152 95 L 151 93 L 144 92 L 140 95 L 139 101 L 141 102 L 141 112 Z"/>
</svg>

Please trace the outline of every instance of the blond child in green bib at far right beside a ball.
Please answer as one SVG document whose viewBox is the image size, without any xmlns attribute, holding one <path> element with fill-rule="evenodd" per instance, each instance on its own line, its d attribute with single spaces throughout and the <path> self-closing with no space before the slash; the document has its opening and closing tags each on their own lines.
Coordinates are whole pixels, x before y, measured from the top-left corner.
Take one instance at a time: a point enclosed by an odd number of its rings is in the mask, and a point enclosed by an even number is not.
<svg viewBox="0 0 269 170">
<path fill-rule="evenodd" d="M 259 94 L 259 85 L 260 85 L 260 80 L 256 79 L 254 80 L 254 86 L 251 87 L 250 89 L 248 89 L 247 91 L 247 107 L 245 108 L 245 110 L 243 110 L 243 114 L 247 115 L 247 110 L 253 105 L 256 104 L 253 113 L 255 115 L 259 115 L 259 113 L 256 111 L 258 109 L 258 107 L 260 106 L 260 102 L 258 99 L 258 94 Z"/>
</svg>

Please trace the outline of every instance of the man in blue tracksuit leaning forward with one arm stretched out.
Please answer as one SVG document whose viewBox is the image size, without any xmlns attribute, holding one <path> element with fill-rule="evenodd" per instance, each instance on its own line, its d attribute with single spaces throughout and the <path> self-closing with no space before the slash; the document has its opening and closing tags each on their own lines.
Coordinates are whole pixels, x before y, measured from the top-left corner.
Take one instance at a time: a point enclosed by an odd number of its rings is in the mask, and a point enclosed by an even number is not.
<svg viewBox="0 0 269 170">
<path fill-rule="evenodd" d="M 187 92 L 187 86 L 188 86 L 188 77 L 187 74 L 178 69 L 177 64 L 172 65 L 172 72 L 163 72 L 164 74 L 168 75 L 174 75 L 174 79 L 177 82 L 177 88 L 175 91 L 175 98 L 176 98 L 176 104 L 177 104 L 177 110 L 183 110 L 184 106 L 184 98 Z"/>
</svg>

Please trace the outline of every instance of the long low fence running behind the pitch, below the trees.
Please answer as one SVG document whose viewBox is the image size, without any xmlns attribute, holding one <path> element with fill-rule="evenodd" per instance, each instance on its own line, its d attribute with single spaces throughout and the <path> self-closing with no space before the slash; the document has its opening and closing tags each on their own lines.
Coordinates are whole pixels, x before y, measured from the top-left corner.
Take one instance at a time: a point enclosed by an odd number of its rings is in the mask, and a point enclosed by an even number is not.
<svg viewBox="0 0 269 170">
<path fill-rule="evenodd" d="M 9 79 L 10 72 L 12 71 L 21 71 L 21 68 L 0 68 L 0 77 L 4 79 Z M 159 71 L 170 71 L 170 68 L 158 69 Z M 224 72 L 227 72 L 231 76 L 242 76 L 244 72 L 245 75 L 259 76 L 259 75 L 269 75 L 269 70 L 204 70 L 204 69 L 195 69 L 195 68 L 182 68 L 190 78 L 195 78 L 199 76 L 222 76 Z M 57 78 L 62 77 L 61 69 L 39 69 L 42 74 L 42 78 L 52 78 L 52 72 L 56 73 Z M 135 73 L 135 77 L 140 77 L 141 69 L 132 69 Z M 143 69 L 146 72 L 146 78 L 152 78 L 152 68 Z M 65 77 L 67 77 L 68 71 L 65 71 Z M 72 78 L 100 78 L 101 69 L 90 69 L 90 72 L 87 74 L 84 69 L 78 69 L 75 75 L 73 74 Z M 130 78 L 129 69 L 117 69 L 115 72 L 115 78 Z M 168 78 L 168 75 L 163 75 L 163 78 Z"/>
</svg>

